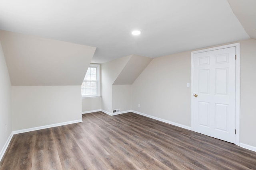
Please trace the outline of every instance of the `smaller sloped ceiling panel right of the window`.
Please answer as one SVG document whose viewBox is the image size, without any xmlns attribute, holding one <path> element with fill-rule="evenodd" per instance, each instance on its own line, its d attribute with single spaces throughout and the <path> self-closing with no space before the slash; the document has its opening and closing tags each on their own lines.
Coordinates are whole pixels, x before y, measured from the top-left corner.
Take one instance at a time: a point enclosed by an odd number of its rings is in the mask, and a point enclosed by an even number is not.
<svg viewBox="0 0 256 170">
<path fill-rule="evenodd" d="M 124 66 L 113 85 L 133 84 L 136 78 L 152 61 L 152 58 L 132 55 L 128 63 Z"/>
</svg>

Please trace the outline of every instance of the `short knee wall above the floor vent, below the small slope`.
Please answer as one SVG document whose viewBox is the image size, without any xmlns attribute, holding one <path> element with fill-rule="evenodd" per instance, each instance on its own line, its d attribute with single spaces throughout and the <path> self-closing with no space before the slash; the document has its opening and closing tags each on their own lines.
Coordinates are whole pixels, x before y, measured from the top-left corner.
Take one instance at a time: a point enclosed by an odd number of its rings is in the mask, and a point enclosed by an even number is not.
<svg viewBox="0 0 256 170">
<path fill-rule="evenodd" d="M 112 109 L 120 111 L 131 110 L 131 86 L 112 85 Z"/>
</svg>

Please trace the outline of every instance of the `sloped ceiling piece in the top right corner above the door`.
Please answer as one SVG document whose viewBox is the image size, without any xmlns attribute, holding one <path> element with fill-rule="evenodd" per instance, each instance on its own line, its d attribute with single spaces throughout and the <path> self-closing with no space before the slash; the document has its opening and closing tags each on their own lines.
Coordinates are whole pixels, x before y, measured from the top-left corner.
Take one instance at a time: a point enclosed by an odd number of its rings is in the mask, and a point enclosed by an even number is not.
<svg viewBox="0 0 256 170">
<path fill-rule="evenodd" d="M 248 35 L 256 39 L 256 0 L 228 0 Z"/>
</svg>

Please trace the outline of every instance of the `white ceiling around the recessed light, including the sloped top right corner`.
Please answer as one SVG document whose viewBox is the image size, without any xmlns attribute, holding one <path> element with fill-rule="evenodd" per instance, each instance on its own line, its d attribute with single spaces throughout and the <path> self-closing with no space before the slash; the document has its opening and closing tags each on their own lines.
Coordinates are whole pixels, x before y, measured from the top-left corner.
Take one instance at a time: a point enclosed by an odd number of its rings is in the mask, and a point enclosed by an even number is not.
<svg viewBox="0 0 256 170">
<path fill-rule="evenodd" d="M 105 63 L 256 38 L 255 7 L 255 0 L 0 0 L 0 29 L 97 47 L 92 63 Z"/>
</svg>

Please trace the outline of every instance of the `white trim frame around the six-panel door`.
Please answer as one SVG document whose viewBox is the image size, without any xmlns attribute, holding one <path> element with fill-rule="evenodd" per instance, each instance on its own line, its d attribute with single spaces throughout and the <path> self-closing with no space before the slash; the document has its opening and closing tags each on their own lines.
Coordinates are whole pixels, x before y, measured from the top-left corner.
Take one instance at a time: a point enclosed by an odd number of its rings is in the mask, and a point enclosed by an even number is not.
<svg viewBox="0 0 256 170">
<path fill-rule="evenodd" d="M 206 51 L 213 51 L 218 49 L 224 49 L 229 47 L 236 47 L 236 145 L 240 146 L 240 43 L 234 43 L 229 45 L 222 45 L 209 49 L 202 49 L 191 52 L 191 130 L 194 131 L 194 115 L 192 114 L 192 98 L 194 97 L 193 89 L 193 78 L 194 78 L 194 54 L 202 53 Z"/>
</svg>

